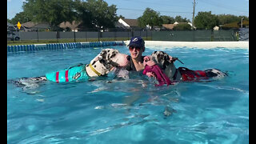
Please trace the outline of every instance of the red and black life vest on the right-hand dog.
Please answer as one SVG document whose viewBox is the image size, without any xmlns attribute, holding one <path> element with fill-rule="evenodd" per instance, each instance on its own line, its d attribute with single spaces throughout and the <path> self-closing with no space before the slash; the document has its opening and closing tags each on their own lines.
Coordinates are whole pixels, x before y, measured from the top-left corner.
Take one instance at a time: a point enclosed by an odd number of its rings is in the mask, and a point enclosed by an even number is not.
<svg viewBox="0 0 256 144">
<path fill-rule="evenodd" d="M 204 70 L 190 70 L 186 67 L 179 67 L 178 70 L 182 74 L 183 81 L 196 81 L 208 78 Z"/>
</svg>

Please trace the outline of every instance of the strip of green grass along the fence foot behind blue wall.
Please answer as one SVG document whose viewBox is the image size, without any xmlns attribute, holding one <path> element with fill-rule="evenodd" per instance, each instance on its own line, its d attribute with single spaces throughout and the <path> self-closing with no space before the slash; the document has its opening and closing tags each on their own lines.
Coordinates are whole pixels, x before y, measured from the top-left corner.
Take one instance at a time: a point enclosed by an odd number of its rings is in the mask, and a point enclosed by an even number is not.
<svg viewBox="0 0 256 144">
<path fill-rule="evenodd" d="M 151 37 L 142 37 L 145 40 L 151 40 Z M 99 38 L 99 41 L 126 41 L 129 38 Z M 20 41 L 7 41 L 7 46 L 14 45 L 33 45 L 33 44 L 45 44 L 45 43 L 68 43 L 68 42 L 98 42 L 98 38 L 73 38 L 69 39 L 49 39 L 49 40 L 20 40 Z"/>
</svg>

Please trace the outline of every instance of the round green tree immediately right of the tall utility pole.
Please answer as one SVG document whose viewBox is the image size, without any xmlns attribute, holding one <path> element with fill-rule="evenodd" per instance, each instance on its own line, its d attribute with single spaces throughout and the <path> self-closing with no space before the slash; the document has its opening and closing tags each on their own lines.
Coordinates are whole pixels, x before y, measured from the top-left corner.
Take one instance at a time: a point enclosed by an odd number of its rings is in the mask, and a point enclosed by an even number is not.
<svg viewBox="0 0 256 144">
<path fill-rule="evenodd" d="M 198 12 L 198 15 L 194 18 L 194 26 L 197 29 L 211 30 L 214 26 L 218 26 L 218 17 L 209 12 Z"/>
</svg>

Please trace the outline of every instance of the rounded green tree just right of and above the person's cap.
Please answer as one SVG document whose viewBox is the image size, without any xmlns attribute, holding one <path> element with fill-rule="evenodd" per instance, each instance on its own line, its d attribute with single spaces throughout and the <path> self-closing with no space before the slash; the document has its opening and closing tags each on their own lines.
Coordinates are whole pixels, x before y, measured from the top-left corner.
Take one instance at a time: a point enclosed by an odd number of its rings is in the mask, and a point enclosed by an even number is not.
<svg viewBox="0 0 256 144">
<path fill-rule="evenodd" d="M 162 18 L 159 15 L 159 12 L 146 8 L 143 15 L 138 18 L 138 26 L 146 27 L 149 25 L 151 29 L 153 26 L 162 26 Z"/>
</svg>

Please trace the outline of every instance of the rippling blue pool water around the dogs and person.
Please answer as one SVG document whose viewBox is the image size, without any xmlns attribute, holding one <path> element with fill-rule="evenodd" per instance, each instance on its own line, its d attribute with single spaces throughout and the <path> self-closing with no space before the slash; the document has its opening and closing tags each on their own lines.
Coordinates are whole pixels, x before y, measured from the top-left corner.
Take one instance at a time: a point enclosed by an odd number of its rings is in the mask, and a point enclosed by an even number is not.
<svg viewBox="0 0 256 144">
<path fill-rule="evenodd" d="M 128 54 L 126 46 L 114 46 Z M 7 54 L 7 79 L 41 76 L 88 63 L 102 48 Z M 154 87 L 128 80 L 48 82 L 29 93 L 7 83 L 8 143 L 249 143 L 249 50 L 164 50 L 192 70 L 218 68 L 229 77 Z M 110 82 L 112 81 L 112 82 Z M 165 116 L 168 109 L 170 116 Z"/>
</svg>

